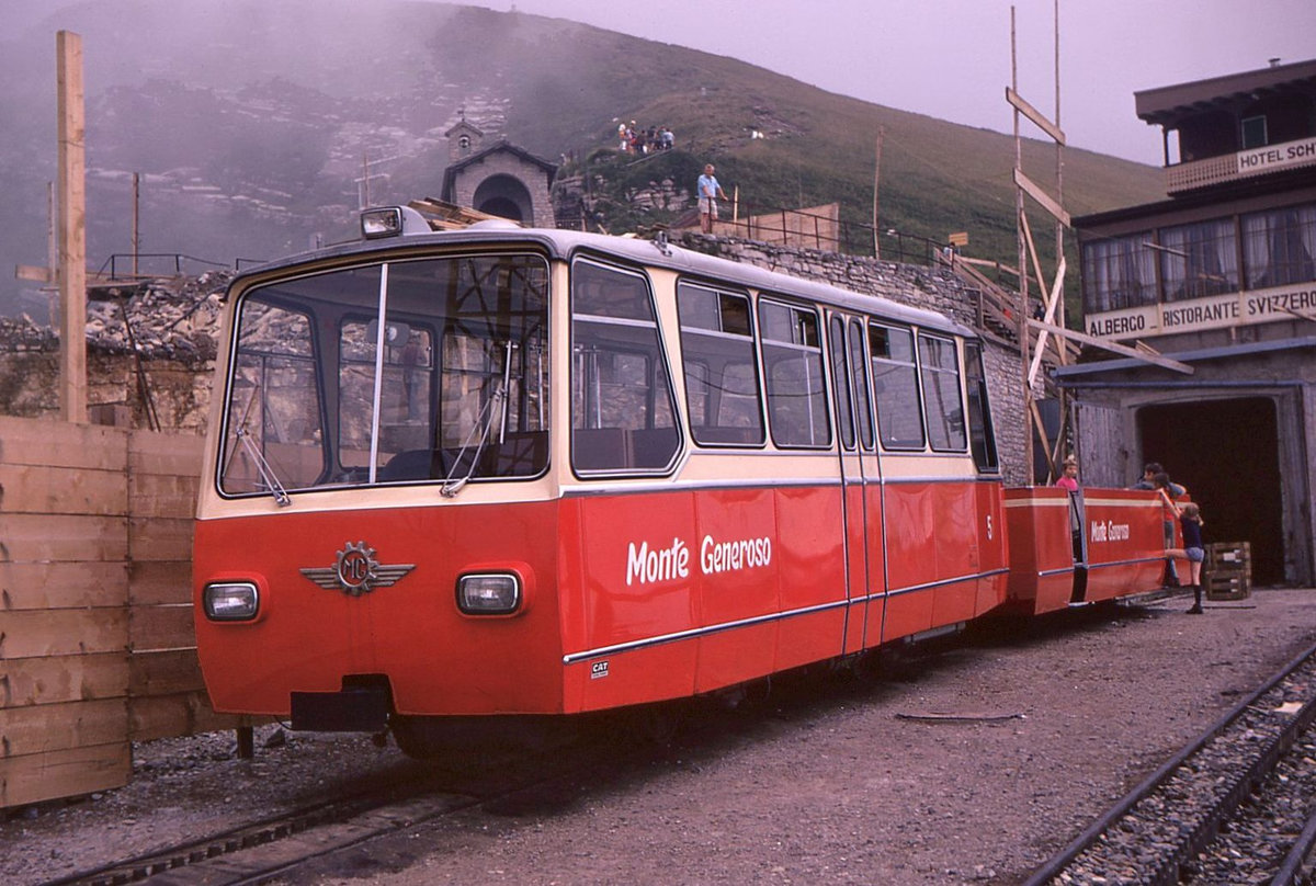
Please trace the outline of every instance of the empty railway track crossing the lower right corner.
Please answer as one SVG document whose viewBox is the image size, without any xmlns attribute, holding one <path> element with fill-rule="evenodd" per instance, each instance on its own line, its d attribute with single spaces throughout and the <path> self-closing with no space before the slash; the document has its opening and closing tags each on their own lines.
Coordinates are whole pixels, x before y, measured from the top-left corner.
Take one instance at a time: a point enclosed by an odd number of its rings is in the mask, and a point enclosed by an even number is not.
<svg viewBox="0 0 1316 886">
<path fill-rule="evenodd" d="M 1316 645 L 1134 787 L 1025 886 L 1307 883 Z"/>
</svg>

